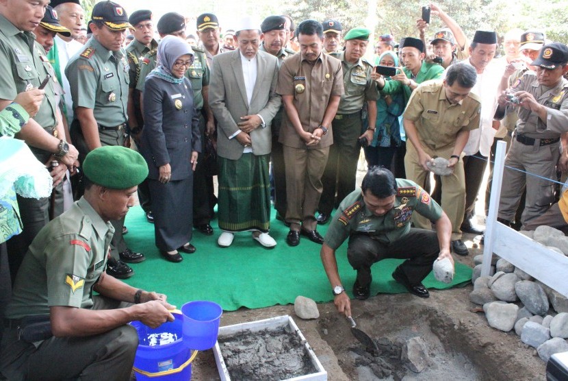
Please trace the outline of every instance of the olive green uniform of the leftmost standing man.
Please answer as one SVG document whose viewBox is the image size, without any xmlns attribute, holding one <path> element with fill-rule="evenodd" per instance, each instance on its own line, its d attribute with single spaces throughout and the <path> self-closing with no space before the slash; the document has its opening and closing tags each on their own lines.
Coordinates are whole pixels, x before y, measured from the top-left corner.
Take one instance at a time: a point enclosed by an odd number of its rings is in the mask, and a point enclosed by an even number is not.
<svg viewBox="0 0 568 381">
<path fill-rule="evenodd" d="M 53 66 L 45 56 L 45 51 L 31 32 L 23 32 L 0 14 L 0 99 L 15 99 L 18 93 L 28 88 L 38 88 L 42 81 L 51 75 L 45 86 L 45 97 L 34 120 L 49 134 L 57 137 L 57 95 L 62 94 L 57 86 Z M 34 156 L 47 163 L 53 153 L 37 147 L 29 147 Z M 62 184 L 57 188 L 61 191 Z M 25 198 L 18 195 L 23 233 L 8 242 L 10 251 L 10 271 L 12 276 L 25 256 L 27 248 L 36 234 L 49 221 L 50 199 Z M 62 210 L 61 210 L 62 211 Z M 57 215 L 53 212 L 53 215 Z"/>
</svg>

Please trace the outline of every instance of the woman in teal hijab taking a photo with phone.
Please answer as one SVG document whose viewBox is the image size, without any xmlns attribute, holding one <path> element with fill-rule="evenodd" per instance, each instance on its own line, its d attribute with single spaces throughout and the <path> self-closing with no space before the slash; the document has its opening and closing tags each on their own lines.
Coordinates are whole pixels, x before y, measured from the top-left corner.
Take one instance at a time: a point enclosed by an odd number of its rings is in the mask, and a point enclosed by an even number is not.
<svg viewBox="0 0 568 381">
<path fill-rule="evenodd" d="M 393 51 L 385 51 L 380 55 L 377 64 L 381 66 L 398 67 L 398 56 Z M 387 81 L 390 77 L 385 78 Z M 376 101 L 376 123 L 373 140 L 365 147 L 365 159 L 367 165 L 382 165 L 390 169 L 395 177 L 405 178 L 404 175 L 404 153 L 402 157 L 398 151 L 404 148 L 405 142 L 401 138 L 402 121 L 399 118 L 404 112 L 404 95 L 393 94 L 380 97 Z M 404 130 L 402 130 L 404 134 Z M 393 162 L 393 157 L 397 153 Z M 402 168 L 402 169 L 401 169 Z"/>
</svg>

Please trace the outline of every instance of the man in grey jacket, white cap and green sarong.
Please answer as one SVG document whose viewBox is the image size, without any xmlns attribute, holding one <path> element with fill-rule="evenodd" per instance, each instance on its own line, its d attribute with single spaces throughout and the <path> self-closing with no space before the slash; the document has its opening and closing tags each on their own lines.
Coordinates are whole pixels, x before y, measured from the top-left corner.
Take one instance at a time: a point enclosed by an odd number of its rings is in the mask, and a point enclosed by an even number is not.
<svg viewBox="0 0 568 381">
<path fill-rule="evenodd" d="M 238 49 L 214 57 L 209 104 L 218 121 L 218 244 L 229 247 L 234 232 L 252 231 L 264 247 L 276 241 L 270 228 L 268 162 L 270 124 L 281 105 L 276 94 L 278 60 L 259 51 L 260 23 L 241 21 Z"/>
</svg>

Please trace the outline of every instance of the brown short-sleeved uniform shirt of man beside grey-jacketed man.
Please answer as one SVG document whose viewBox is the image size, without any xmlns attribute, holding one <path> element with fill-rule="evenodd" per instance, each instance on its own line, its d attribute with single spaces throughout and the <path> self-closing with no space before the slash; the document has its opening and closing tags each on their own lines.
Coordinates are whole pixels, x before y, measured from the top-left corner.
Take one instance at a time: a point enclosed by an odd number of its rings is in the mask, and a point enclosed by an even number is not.
<svg viewBox="0 0 568 381">
<path fill-rule="evenodd" d="M 298 111 L 302 128 L 304 131 L 313 132 L 324 119 L 329 99 L 344 94 L 341 61 L 322 53 L 314 64 L 310 64 L 301 53 L 295 54 L 282 63 L 276 93 L 294 95 L 294 107 Z M 307 148 L 304 140 L 296 133 L 286 112 L 284 112 L 279 142 L 289 147 Z M 320 143 L 311 147 L 321 149 L 332 144 L 333 132 L 329 128 Z"/>
</svg>

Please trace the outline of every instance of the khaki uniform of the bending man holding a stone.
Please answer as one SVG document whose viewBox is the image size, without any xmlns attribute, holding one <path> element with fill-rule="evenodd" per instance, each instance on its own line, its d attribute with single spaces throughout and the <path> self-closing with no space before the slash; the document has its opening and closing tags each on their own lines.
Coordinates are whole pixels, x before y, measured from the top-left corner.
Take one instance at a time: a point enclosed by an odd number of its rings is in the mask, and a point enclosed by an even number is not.
<svg viewBox="0 0 568 381">
<path fill-rule="evenodd" d="M 461 131 L 479 128 L 481 102 L 479 97 L 469 93 L 460 103 L 450 104 L 442 82 L 426 82 L 414 90 L 404 119 L 413 121 L 422 148 L 432 158 L 450 158 Z M 404 157 L 406 176 L 417 184 L 424 184 L 428 171 L 418 161 L 418 153 L 412 144 L 406 145 Z M 452 222 L 452 241 L 461 239 L 460 226 L 465 207 L 465 177 L 463 162 L 459 160 L 451 175 L 441 176 L 441 206 Z M 430 229 L 428 219 L 415 216 L 415 226 Z"/>
</svg>

